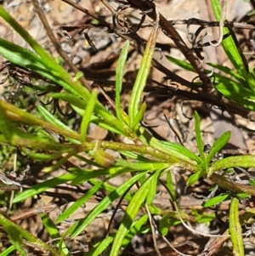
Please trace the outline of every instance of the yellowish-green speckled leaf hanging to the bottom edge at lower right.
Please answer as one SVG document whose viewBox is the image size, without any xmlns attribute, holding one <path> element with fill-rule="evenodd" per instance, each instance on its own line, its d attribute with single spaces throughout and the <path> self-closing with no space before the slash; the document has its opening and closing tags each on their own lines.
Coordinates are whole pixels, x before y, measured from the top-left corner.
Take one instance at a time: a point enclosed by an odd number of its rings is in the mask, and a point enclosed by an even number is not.
<svg viewBox="0 0 255 256">
<path fill-rule="evenodd" d="M 244 246 L 242 239 L 242 230 L 239 219 L 239 201 L 232 198 L 229 209 L 229 234 L 233 244 L 233 253 L 235 256 L 244 256 Z"/>
</svg>

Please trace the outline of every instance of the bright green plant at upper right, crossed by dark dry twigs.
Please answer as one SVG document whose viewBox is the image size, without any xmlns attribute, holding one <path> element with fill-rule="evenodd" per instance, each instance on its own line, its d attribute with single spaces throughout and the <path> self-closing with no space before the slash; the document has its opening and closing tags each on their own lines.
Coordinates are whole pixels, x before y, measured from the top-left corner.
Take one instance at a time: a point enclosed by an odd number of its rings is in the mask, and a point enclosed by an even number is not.
<svg viewBox="0 0 255 256">
<path fill-rule="evenodd" d="M 212 1 L 212 7 L 216 20 L 220 20 L 221 9 L 219 1 Z M 229 29 L 232 30 L 230 27 Z M 233 35 L 233 32 L 229 34 L 229 29 L 226 27 L 223 28 L 224 35 L 229 35 L 229 37 L 224 38 L 222 45 L 224 52 L 228 56 L 228 60 L 234 66 L 235 71 L 228 66 L 207 63 L 207 65 L 221 71 L 212 73 L 214 88 L 216 88 L 220 94 L 224 95 L 224 97 L 228 98 L 229 100 L 233 100 L 238 105 L 254 111 L 254 72 L 252 68 L 248 67 L 246 58 L 241 53 L 240 48 L 236 45 L 237 39 L 233 38 L 235 34 Z M 195 72 L 194 67 L 186 61 L 178 60 L 171 56 L 167 56 L 167 60 L 170 60 L 187 71 Z M 206 72 L 209 74 L 211 71 L 207 70 Z M 195 86 L 200 87 L 201 84 L 194 83 L 194 87 Z"/>
</svg>

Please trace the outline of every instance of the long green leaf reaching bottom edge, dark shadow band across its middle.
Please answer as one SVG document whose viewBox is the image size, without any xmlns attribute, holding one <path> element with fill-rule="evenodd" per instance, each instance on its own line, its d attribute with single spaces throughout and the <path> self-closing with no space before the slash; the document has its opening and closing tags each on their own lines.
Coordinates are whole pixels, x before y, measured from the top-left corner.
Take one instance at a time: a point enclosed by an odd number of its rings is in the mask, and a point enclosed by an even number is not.
<svg viewBox="0 0 255 256">
<path fill-rule="evenodd" d="M 122 219 L 122 223 L 119 229 L 116 232 L 115 239 L 113 241 L 111 247 L 110 256 L 117 256 L 119 253 L 120 248 L 122 247 L 122 242 L 124 237 L 127 235 L 128 230 L 130 229 L 131 225 L 133 224 L 133 219 L 136 217 L 139 208 L 141 207 L 142 203 L 144 202 L 149 188 L 150 182 L 153 179 L 154 175 L 151 175 L 143 185 L 139 187 L 139 190 L 136 191 L 132 200 L 129 202 L 127 206 L 126 213 Z"/>
</svg>

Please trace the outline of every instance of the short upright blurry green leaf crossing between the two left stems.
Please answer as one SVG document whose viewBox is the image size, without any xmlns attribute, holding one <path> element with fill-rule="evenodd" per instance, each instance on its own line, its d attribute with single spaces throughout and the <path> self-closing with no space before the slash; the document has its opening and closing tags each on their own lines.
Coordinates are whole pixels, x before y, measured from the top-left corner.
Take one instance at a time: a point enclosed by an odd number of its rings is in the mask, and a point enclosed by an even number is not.
<svg viewBox="0 0 255 256">
<path fill-rule="evenodd" d="M 93 90 L 89 100 L 88 100 L 88 104 L 86 106 L 86 109 L 84 111 L 84 115 L 82 117 L 82 123 L 81 123 L 81 139 L 82 142 L 86 141 L 87 138 L 87 133 L 88 133 L 88 125 L 89 122 L 91 120 L 91 116 L 94 112 L 94 107 L 96 105 L 96 101 L 97 101 L 97 92 L 95 90 Z"/>
</svg>

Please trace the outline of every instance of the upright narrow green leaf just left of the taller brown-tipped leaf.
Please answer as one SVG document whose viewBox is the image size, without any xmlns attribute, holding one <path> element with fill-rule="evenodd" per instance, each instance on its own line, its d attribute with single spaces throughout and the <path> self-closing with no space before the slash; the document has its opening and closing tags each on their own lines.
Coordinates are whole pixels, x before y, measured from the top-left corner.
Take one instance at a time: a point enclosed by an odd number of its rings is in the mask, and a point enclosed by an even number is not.
<svg viewBox="0 0 255 256">
<path fill-rule="evenodd" d="M 129 41 L 124 44 L 122 48 L 122 53 L 116 65 L 116 96 L 115 96 L 115 104 L 116 104 L 116 116 L 119 121 L 121 121 L 124 125 L 123 119 L 123 111 L 121 106 L 121 93 L 122 93 L 122 80 L 124 76 L 125 63 L 127 60 Z"/>
</svg>

